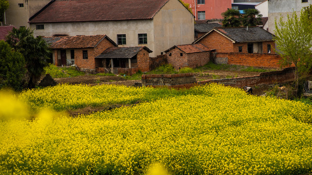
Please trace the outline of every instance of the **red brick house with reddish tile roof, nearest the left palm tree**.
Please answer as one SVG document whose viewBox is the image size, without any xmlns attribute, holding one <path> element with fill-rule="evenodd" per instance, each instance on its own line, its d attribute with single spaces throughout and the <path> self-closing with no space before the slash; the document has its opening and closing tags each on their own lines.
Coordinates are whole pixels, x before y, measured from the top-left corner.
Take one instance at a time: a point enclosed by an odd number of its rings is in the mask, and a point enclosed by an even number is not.
<svg viewBox="0 0 312 175">
<path fill-rule="evenodd" d="M 107 35 L 43 37 L 53 49 L 56 66 L 77 65 L 81 69 L 96 69 L 95 57 L 117 44 Z"/>
</svg>

